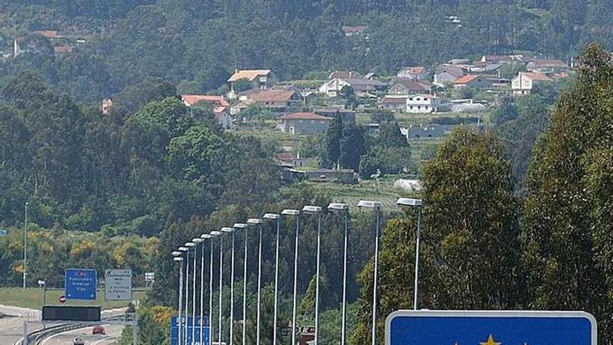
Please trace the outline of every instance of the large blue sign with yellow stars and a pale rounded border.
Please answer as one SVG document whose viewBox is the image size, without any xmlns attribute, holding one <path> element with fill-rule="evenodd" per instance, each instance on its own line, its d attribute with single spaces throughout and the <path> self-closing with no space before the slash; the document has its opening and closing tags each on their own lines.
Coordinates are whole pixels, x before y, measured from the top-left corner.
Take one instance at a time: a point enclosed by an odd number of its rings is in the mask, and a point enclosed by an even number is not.
<svg viewBox="0 0 613 345">
<path fill-rule="evenodd" d="M 399 311 L 387 317 L 385 345 L 597 345 L 584 312 Z"/>
</svg>

